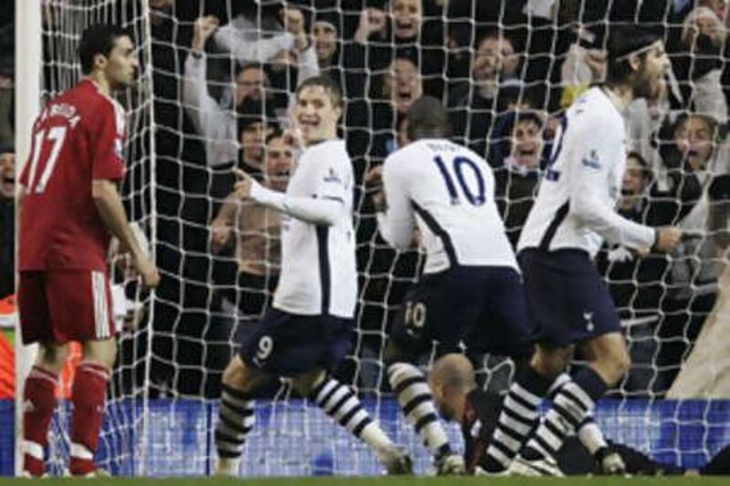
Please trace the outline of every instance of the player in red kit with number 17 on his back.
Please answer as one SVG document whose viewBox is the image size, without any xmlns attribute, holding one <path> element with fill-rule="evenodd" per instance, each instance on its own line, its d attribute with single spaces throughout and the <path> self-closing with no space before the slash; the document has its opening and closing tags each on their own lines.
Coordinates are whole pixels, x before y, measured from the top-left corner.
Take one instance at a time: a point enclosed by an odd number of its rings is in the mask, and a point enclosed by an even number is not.
<svg viewBox="0 0 730 486">
<path fill-rule="evenodd" d="M 78 47 L 85 77 L 52 99 L 33 127 L 20 178 L 18 306 L 25 344 L 40 346 L 23 394 L 24 473 L 42 475 L 57 376 L 69 341 L 83 359 L 71 401 L 70 471 L 94 475 L 110 368 L 116 357 L 107 252 L 110 237 L 126 248 L 143 284 L 160 274 L 130 229 L 117 183 L 124 177 L 124 109 L 110 93 L 133 83 L 131 36 L 89 26 Z"/>
</svg>

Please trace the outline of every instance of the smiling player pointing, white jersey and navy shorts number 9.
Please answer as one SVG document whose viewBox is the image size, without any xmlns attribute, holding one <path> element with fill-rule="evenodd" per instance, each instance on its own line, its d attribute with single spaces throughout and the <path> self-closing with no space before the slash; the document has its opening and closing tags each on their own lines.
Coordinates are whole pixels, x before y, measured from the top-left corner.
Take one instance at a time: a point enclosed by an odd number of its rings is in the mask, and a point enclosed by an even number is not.
<svg viewBox="0 0 730 486">
<path fill-rule="evenodd" d="M 254 426 L 255 391 L 291 377 L 311 398 L 378 454 L 390 473 L 411 472 L 411 460 L 362 408 L 352 390 L 331 377 L 351 347 L 357 297 L 352 228 L 352 168 L 337 138 L 339 87 L 327 77 L 297 88 L 295 128 L 304 146 L 287 191 L 266 189 L 239 171 L 235 191 L 282 212 L 281 274 L 274 302 L 226 367 L 215 445 L 219 474 L 235 475 Z"/>
</svg>

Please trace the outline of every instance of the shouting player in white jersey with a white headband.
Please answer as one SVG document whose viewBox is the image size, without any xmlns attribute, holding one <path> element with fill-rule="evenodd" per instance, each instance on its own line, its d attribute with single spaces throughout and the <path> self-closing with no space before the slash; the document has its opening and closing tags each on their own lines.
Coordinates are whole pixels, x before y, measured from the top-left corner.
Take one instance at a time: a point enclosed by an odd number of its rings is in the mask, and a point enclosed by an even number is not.
<svg viewBox="0 0 730 486">
<path fill-rule="evenodd" d="M 619 317 L 592 258 L 604 241 L 639 253 L 671 252 L 676 228 L 654 229 L 614 211 L 626 161 L 623 112 L 655 97 L 669 61 L 662 40 L 630 26 L 613 32 L 606 83 L 562 119 L 550 165 L 518 243 L 527 304 L 537 325 L 536 361 L 557 375 L 573 349 L 588 361 L 560 389 L 509 471 L 558 475 L 553 456 L 605 391 L 631 366 Z"/>
</svg>

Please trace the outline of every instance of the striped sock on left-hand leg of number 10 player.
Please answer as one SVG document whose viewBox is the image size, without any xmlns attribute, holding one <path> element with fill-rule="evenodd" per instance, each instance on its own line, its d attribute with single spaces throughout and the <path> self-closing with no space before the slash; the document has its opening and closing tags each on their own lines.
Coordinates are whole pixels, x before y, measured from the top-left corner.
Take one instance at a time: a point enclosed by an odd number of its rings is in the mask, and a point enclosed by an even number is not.
<svg viewBox="0 0 730 486">
<path fill-rule="evenodd" d="M 431 389 L 422 372 L 408 363 L 393 363 L 388 367 L 388 379 L 403 415 L 413 424 L 433 456 L 440 458 L 451 454 L 449 439 L 438 419 Z"/>
</svg>

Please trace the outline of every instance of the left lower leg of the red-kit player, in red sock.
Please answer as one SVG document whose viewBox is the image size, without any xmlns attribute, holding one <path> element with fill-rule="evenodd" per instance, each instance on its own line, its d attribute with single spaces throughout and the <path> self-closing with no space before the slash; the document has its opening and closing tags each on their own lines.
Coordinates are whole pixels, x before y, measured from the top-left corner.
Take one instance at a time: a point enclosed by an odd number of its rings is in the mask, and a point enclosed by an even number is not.
<svg viewBox="0 0 730 486">
<path fill-rule="evenodd" d="M 26 476 L 45 473 L 44 450 L 48 427 L 56 408 L 58 375 L 68 357 L 68 345 L 40 343 L 38 356 L 23 390 L 23 472 Z"/>
</svg>

